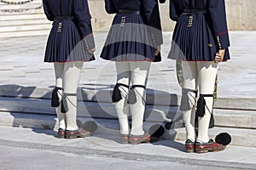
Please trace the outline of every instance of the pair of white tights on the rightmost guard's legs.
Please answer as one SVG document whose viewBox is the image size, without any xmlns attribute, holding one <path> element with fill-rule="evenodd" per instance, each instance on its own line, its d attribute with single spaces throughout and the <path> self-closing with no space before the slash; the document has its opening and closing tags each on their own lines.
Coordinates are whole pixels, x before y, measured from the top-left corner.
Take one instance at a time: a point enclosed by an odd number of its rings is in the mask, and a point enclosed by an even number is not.
<svg viewBox="0 0 256 170">
<path fill-rule="evenodd" d="M 213 94 L 218 64 L 213 62 L 188 62 L 183 61 L 183 88 L 197 89 L 199 94 Z M 198 84 L 198 85 L 197 85 Z M 209 140 L 208 128 L 212 112 L 213 98 L 205 97 L 206 113 L 198 120 L 197 142 L 206 143 Z M 209 112 L 209 111 L 211 112 Z M 186 126 L 187 139 L 195 141 L 195 105 L 184 111 L 184 122 Z"/>
</svg>

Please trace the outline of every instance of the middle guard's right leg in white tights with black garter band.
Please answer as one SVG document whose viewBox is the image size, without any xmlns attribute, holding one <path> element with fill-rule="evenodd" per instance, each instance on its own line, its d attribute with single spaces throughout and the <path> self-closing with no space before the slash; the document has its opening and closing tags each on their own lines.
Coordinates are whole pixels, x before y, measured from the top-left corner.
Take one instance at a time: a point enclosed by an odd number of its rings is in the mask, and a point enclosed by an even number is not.
<svg viewBox="0 0 256 170">
<path fill-rule="evenodd" d="M 131 82 L 137 100 L 136 103 L 131 104 L 131 135 L 144 134 L 143 117 L 146 105 L 146 91 L 144 87 L 148 81 L 149 69 L 150 62 L 131 62 Z M 133 103 L 131 100 L 128 102 Z"/>
</svg>

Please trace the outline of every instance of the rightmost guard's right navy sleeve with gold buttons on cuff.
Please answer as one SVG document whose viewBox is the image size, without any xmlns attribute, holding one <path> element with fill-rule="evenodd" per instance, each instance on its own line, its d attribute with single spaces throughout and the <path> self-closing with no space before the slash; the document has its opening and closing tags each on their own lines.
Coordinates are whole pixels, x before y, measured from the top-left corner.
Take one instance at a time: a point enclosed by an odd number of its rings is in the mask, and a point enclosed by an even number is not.
<svg viewBox="0 0 256 170">
<path fill-rule="evenodd" d="M 209 13 L 216 41 L 218 42 L 218 48 L 228 48 L 230 46 L 230 38 L 224 0 L 209 1 Z"/>
</svg>

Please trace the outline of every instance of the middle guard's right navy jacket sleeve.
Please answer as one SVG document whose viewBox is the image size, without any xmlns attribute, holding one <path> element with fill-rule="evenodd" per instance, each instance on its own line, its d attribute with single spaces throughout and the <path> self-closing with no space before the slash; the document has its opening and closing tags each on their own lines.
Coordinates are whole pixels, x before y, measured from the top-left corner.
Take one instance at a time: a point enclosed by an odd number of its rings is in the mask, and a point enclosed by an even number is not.
<svg viewBox="0 0 256 170">
<path fill-rule="evenodd" d="M 143 0 L 145 20 L 154 47 L 163 43 L 158 0 Z"/>
</svg>

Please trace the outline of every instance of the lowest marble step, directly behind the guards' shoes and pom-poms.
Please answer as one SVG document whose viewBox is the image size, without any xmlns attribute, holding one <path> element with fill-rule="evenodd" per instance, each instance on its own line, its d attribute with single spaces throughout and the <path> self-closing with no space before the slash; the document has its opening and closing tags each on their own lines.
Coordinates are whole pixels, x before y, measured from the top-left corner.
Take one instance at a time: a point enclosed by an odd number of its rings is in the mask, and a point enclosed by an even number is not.
<svg viewBox="0 0 256 170">
<path fill-rule="evenodd" d="M 98 125 L 95 133 L 119 135 L 119 122 L 117 120 L 79 117 L 79 121 L 82 123 L 91 120 L 95 121 Z M 154 122 L 146 122 L 144 123 L 143 128 L 148 130 L 154 124 Z M 44 128 L 55 129 L 55 131 L 58 128 L 55 116 L 11 112 L 0 112 L 0 126 Z M 255 129 L 214 127 L 209 130 L 209 136 L 212 139 L 214 139 L 218 133 L 229 133 L 232 138 L 230 143 L 232 145 L 256 147 L 254 142 L 256 141 Z M 185 129 L 182 127 L 166 130 L 162 139 L 184 141 Z"/>
</svg>

